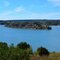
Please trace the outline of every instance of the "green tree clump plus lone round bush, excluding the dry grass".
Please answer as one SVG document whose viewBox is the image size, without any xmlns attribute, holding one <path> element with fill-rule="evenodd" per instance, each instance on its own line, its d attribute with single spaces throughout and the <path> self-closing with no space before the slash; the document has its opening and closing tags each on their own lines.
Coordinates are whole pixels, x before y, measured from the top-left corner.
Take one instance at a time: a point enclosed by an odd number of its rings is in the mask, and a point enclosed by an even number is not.
<svg viewBox="0 0 60 60">
<path fill-rule="evenodd" d="M 48 49 L 44 47 L 39 47 L 37 53 L 39 56 L 49 56 Z M 30 60 L 31 55 L 34 55 L 32 47 L 26 42 L 20 42 L 16 46 L 0 42 L 0 60 Z"/>
</svg>

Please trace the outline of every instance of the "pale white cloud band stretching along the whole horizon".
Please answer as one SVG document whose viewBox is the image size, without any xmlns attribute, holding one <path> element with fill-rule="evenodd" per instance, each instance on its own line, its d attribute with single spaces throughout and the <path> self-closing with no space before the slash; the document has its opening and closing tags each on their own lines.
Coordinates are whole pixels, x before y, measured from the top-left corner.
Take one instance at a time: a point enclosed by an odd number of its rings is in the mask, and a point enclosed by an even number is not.
<svg viewBox="0 0 60 60">
<path fill-rule="evenodd" d="M 23 15 L 12 15 L 12 13 L 2 13 L 0 14 L 0 19 L 9 20 L 9 19 L 60 19 L 60 13 L 32 13 L 32 14 L 23 14 Z"/>
</svg>

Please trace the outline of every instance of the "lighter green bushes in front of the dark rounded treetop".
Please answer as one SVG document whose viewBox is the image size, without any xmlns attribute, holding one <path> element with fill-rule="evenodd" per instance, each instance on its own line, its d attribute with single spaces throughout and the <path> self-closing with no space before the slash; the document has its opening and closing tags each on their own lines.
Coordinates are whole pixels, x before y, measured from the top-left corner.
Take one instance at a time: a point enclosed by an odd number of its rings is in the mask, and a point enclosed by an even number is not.
<svg viewBox="0 0 60 60">
<path fill-rule="evenodd" d="M 19 47 L 10 47 L 8 60 L 29 60 L 30 54 L 24 50 L 20 49 Z"/>
</svg>

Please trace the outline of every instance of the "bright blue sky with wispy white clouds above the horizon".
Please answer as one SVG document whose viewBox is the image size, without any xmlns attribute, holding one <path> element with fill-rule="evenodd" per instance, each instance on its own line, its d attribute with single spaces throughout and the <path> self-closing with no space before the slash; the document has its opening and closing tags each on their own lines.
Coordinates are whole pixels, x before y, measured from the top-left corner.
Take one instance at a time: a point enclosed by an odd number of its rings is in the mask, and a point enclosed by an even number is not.
<svg viewBox="0 0 60 60">
<path fill-rule="evenodd" d="M 60 0 L 0 0 L 0 20 L 60 19 Z"/>
</svg>

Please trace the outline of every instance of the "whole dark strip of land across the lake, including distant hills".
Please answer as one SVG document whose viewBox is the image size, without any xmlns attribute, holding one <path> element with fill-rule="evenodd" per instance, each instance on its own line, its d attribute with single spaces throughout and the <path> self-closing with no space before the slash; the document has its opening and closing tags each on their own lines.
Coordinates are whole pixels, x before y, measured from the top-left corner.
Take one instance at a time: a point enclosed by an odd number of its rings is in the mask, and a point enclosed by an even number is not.
<svg viewBox="0 0 60 60">
<path fill-rule="evenodd" d="M 51 30 L 51 26 L 60 25 L 60 20 L 6 20 L 0 21 L 0 24 L 10 28 Z"/>
</svg>

